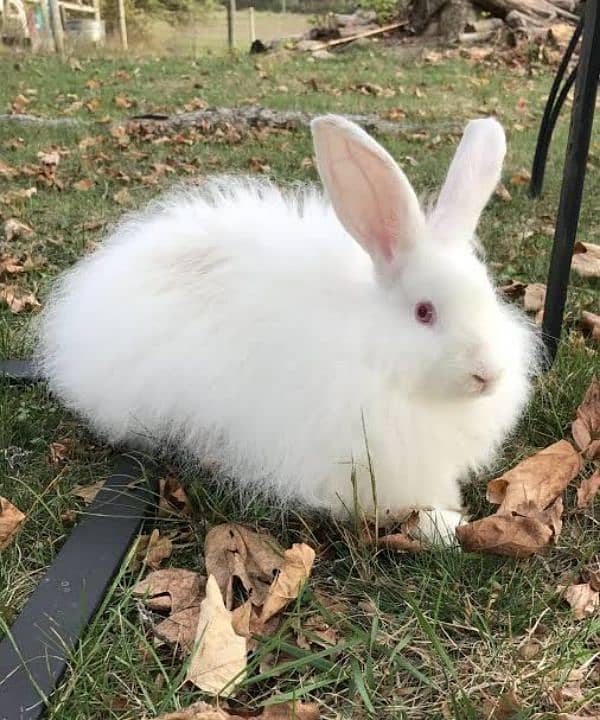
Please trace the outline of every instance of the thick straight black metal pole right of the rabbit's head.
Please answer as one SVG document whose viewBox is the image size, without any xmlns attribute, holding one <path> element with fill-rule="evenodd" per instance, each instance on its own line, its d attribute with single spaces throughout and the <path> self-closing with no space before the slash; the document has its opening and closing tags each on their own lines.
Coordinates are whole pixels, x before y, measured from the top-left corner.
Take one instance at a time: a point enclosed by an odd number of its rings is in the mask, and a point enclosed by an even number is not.
<svg viewBox="0 0 600 720">
<path fill-rule="evenodd" d="M 556 356 L 562 328 L 600 78 L 600 0 L 587 0 L 584 12 L 579 69 L 544 307 L 543 333 L 548 366 Z"/>
</svg>

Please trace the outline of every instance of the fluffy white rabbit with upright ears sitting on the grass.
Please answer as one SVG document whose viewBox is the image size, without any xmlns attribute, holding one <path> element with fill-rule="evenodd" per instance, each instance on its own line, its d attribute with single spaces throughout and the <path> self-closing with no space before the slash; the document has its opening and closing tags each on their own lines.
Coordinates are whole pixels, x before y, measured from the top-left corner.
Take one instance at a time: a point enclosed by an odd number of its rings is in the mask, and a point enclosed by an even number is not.
<svg viewBox="0 0 600 720">
<path fill-rule="evenodd" d="M 339 512 L 432 509 L 489 463 L 537 341 L 474 250 L 506 144 L 467 126 L 425 214 L 353 123 L 313 121 L 317 190 L 216 178 L 126 218 L 58 283 L 39 360 L 113 443 L 176 443 L 243 487 Z M 364 426 L 363 426 L 364 424 Z"/>
</svg>

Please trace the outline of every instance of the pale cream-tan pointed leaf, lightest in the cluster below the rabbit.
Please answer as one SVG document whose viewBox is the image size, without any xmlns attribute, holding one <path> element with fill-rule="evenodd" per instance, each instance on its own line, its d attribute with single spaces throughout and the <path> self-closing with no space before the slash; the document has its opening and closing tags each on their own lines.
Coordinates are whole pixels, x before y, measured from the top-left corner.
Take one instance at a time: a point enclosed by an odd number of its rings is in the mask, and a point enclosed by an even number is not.
<svg viewBox="0 0 600 720">
<path fill-rule="evenodd" d="M 246 639 L 235 633 L 231 612 L 210 575 L 186 679 L 200 690 L 227 697 L 245 677 L 246 654 Z"/>
</svg>

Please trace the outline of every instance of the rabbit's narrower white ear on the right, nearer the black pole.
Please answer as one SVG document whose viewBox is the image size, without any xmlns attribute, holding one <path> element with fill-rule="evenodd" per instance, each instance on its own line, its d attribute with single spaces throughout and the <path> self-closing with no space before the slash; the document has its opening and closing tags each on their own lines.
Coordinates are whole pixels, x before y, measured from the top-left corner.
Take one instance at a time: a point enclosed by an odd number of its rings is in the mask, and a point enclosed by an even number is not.
<svg viewBox="0 0 600 720">
<path fill-rule="evenodd" d="M 463 134 L 430 218 L 435 233 L 470 241 L 496 189 L 506 155 L 504 130 L 494 118 L 472 120 Z"/>
</svg>

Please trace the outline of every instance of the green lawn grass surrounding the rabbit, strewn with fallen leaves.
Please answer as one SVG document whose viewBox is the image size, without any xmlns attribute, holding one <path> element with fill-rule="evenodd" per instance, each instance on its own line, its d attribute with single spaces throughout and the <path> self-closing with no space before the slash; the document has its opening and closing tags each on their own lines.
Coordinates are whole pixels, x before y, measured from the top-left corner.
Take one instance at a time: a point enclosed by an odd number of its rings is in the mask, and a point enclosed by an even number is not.
<svg viewBox="0 0 600 720">
<path fill-rule="evenodd" d="M 81 121 L 54 128 L 0 125 L 0 158 L 25 170 L 12 179 L 0 177 L 2 219 L 19 217 L 36 231 L 31 238 L 4 244 L 3 252 L 34 259 L 34 269 L 15 282 L 42 302 L 57 273 L 93 247 L 113 220 L 174 181 L 252 168 L 283 183 L 315 179 L 306 160 L 312 154 L 307 131 L 204 136 L 186 130 L 146 139 L 132 135 L 125 146 L 109 131 L 109 119 L 176 112 L 202 102 L 396 117 L 405 132 L 380 139 L 424 193 L 439 187 L 464 122 L 495 113 L 508 129 L 506 184 L 512 200 L 493 199 L 481 238 L 499 283 L 545 279 L 566 114 L 557 128 L 543 197 L 533 202 L 523 186 L 508 181 L 530 165 L 551 82 L 550 69 L 535 62 L 510 69 L 461 58 L 404 63 L 394 48 L 352 49 L 323 63 L 286 54 L 258 61 L 245 56 L 96 58 L 80 60 L 80 69 L 48 58 L 0 62 L 7 78 L 0 88 L 3 109 L 24 95 L 30 99 L 28 112 Z M 374 82 L 379 90 L 365 85 Z M 116 100 L 122 97 L 131 107 Z M 97 144 L 86 147 L 82 141 L 89 137 L 97 138 Z M 592 142 L 579 236 L 597 242 L 598 129 Z M 63 153 L 57 171 L 61 190 L 46 186 L 35 172 L 27 175 L 28 166 L 38 166 L 38 151 L 51 146 Z M 173 171 L 158 174 L 156 163 Z M 149 176 L 156 184 L 148 184 Z M 93 181 L 87 192 L 73 187 L 81 179 Z M 32 185 L 37 194 L 31 199 L 7 204 L 9 190 Z M 124 187 L 129 199 L 119 205 L 113 198 Z M 600 369 L 597 346 L 584 341 L 576 325 L 581 309 L 598 310 L 598 289 L 598 281 L 572 278 L 557 363 L 537 382 L 533 402 L 490 476 L 568 435 L 574 408 Z M 26 313 L 12 315 L 0 308 L 3 356 L 27 355 L 29 319 Z M 49 444 L 63 438 L 72 439 L 73 451 L 65 463 L 54 465 Z M 27 512 L 17 541 L 0 555 L 1 636 L 68 535 L 65 512 L 84 511 L 71 493 L 73 485 L 105 475 L 109 453 L 43 386 L 2 384 L 0 440 L 0 493 Z M 260 501 L 242 506 L 229 490 L 208 480 L 197 482 L 189 469 L 181 470 L 180 477 L 190 487 L 197 512 L 192 539 L 181 547 L 176 543 L 173 565 L 201 569 L 205 532 L 225 520 L 269 529 L 283 543 L 306 540 L 318 551 L 309 587 L 282 629 L 252 659 L 254 673 L 238 698 L 242 704 L 257 707 L 274 697 L 294 696 L 316 699 L 324 718 L 470 720 L 489 717 L 493 703 L 514 690 L 519 699 L 514 718 L 551 718 L 582 707 L 598 712 L 600 618 L 596 614 L 575 621 L 556 594 L 561 579 L 598 556 L 598 502 L 575 513 L 574 491 L 567 493 L 563 533 L 544 557 L 516 561 L 454 550 L 374 555 L 351 524 L 337 526 L 327 518 L 293 512 L 282 518 Z M 476 515 L 490 510 L 484 499 L 486 479 L 465 488 Z M 174 523 L 166 529 L 179 527 Z M 150 718 L 199 696 L 182 685 L 180 661 L 153 646 L 131 598 L 133 579 L 123 571 L 115 580 L 52 698 L 52 720 Z M 336 628 L 335 648 L 296 645 L 300 620 L 312 613 L 324 615 Z M 285 662 L 273 667 L 277 656 Z M 570 671 L 584 665 L 581 695 L 561 699 L 559 689 Z"/>
</svg>

